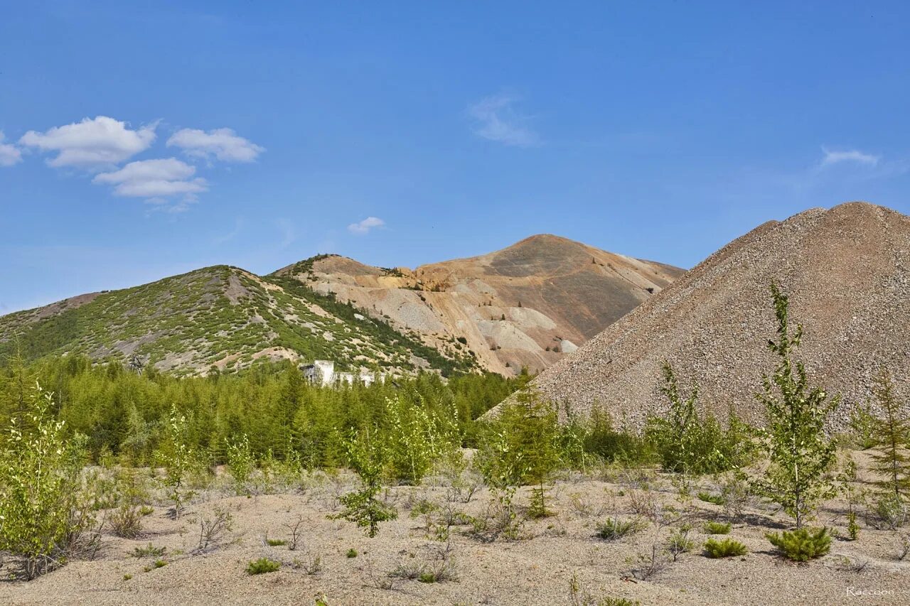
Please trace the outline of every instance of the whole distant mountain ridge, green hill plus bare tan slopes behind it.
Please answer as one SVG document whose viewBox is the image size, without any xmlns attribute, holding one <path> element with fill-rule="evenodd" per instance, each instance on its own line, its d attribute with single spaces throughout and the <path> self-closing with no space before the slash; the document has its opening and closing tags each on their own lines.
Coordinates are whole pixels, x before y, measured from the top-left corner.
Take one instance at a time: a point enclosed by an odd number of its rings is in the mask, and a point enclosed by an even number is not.
<svg viewBox="0 0 910 606">
<path fill-rule="evenodd" d="M 555 236 L 415 270 L 329 255 L 268 276 L 216 266 L 0 317 L 0 356 L 135 355 L 185 374 L 263 358 L 512 374 L 546 368 L 681 274 Z"/>
</svg>

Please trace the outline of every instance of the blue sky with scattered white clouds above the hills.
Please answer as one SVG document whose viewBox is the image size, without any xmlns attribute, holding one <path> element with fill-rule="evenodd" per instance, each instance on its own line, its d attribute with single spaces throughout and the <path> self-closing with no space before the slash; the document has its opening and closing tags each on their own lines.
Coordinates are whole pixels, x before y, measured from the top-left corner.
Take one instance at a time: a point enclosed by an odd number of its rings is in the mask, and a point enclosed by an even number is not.
<svg viewBox="0 0 910 606">
<path fill-rule="evenodd" d="M 910 184 L 910 5 L 5 2 L 0 313 L 555 233 L 691 267 Z"/>
</svg>

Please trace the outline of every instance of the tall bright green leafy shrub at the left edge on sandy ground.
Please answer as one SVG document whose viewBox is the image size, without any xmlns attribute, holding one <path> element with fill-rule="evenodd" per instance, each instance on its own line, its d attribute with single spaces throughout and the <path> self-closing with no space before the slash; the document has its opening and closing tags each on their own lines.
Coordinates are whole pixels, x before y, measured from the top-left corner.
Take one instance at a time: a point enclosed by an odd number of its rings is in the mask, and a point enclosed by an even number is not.
<svg viewBox="0 0 910 606">
<path fill-rule="evenodd" d="M 94 523 L 81 498 L 86 439 L 65 435 L 53 403 L 38 386 L 25 414 L 10 421 L 0 452 L 0 550 L 22 558 L 29 580 L 62 564 Z"/>
</svg>

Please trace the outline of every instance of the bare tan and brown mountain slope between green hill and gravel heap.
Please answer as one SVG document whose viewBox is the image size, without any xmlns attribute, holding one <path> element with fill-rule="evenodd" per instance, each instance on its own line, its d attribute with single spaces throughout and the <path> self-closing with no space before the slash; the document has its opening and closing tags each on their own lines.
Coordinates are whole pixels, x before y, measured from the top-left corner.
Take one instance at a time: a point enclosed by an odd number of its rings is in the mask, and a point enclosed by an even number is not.
<svg viewBox="0 0 910 606">
<path fill-rule="evenodd" d="M 551 366 L 682 273 L 541 235 L 413 270 L 319 256 L 276 275 L 335 293 L 450 356 L 472 351 L 482 368 L 512 374 Z"/>
</svg>

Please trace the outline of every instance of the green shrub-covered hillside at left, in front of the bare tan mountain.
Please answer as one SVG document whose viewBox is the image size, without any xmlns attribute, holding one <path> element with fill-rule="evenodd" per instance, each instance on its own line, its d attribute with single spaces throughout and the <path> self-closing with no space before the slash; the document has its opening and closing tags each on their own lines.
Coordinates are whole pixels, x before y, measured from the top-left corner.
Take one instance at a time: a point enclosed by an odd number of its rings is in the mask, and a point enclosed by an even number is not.
<svg viewBox="0 0 910 606">
<path fill-rule="evenodd" d="M 228 266 L 0 317 L 0 356 L 15 348 L 25 359 L 136 355 L 176 374 L 281 358 L 333 359 L 340 369 L 425 366 L 446 375 L 475 367 L 470 354 L 447 358 L 296 280 Z"/>
</svg>

